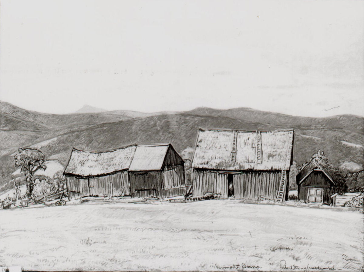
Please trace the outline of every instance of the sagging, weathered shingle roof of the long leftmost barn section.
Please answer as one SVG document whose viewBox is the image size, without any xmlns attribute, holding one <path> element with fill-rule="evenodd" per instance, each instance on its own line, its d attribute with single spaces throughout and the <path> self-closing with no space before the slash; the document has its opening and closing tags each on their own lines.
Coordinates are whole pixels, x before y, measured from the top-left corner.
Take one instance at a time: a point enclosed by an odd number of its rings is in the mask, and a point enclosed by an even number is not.
<svg viewBox="0 0 364 272">
<path fill-rule="evenodd" d="M 106 152 L 86 152 L 72 149 L 64 174 L 99 176 L 128 169 L 137 145 Z"/>
</svg>

